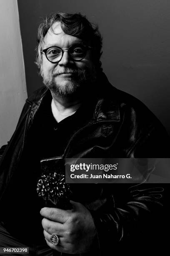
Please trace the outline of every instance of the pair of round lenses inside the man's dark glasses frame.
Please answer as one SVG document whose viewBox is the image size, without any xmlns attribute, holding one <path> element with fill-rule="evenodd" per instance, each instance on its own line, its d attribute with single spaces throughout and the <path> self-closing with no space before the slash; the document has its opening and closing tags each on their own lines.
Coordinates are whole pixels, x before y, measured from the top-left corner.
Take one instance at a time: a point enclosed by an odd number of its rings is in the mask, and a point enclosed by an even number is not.
<svg viewBox="0 0 170 256">
<path fill-rule="evenodd" d="M 71 46 L 68 49 L 68 54 L 70 57 L 74 60 L 81 60 L 85 56 L 86 49 L 83 46 Z M 52 62 L 60 61 L 62 58 L 62 49 L 59 47 L 51 47 L 47 50 L 47 59 L 49 59 Z"/>
</svg>

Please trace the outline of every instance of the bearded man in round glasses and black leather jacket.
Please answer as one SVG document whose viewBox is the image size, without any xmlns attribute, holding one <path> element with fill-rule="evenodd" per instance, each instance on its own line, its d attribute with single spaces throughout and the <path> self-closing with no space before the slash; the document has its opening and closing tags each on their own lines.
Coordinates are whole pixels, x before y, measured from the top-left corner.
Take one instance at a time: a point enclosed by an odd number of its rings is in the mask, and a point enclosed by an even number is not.
<svg viewBox="0 0 170 256">
<path fill-rule="evenodd" d="M 51 248 L 56 255 L 112 255 L 126 244 L 132 253 L 158 229 L 163 189 L 74 184 L 71 210 L 44 207 L 36 194 L 40 160 L 167 157 L 165 129 L 139 100 L 108 82 L 100 33 L 85 16 L 47 17 L 37 42 L 45 87 L 26 100 L 2 149 L 0 246 L 29 247 L 30 255 L 52 255 Z"/>
</svg>

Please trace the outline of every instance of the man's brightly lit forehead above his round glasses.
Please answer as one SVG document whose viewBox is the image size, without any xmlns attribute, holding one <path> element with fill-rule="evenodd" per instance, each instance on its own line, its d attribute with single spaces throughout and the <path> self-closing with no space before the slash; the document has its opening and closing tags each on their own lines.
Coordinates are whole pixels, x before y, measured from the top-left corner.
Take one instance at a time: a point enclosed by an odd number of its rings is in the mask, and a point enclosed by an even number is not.
<svg viewBox="0 0 170 256">
<path fill-rule="evenodd" d="M 52 25 L 52 29 L 49 28 L 47 34 L 44 37 L 44 46 L 60 46 L 63 48 L 69 47 L 70 45 L 81 41 L 82 40 L 76 36 L 65 34 L 64 31 L 62 31 L 60 22 L 55 22 Z"/>
</svg>

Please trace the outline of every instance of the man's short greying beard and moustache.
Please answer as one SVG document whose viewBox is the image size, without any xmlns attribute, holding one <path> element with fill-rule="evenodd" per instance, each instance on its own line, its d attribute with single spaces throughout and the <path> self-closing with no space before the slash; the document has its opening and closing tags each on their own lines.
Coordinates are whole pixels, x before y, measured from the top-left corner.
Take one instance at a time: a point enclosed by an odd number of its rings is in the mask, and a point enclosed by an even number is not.
<svg viewBox="0 0 170 256">
<path fill-rule="evenodd" d="M 65 77 L 65 83 L 58 83 L 55 81 L 61 73 L 73 73 L 72 77 Z M 41 68 L 40 74 L 43 78 L 43 83 L 45 86 L 56 96 L 70 96 L 77 93 L 83 93 L 92 86 L 96 81 L 97 72 L 95 67 L 92 69 L 80 69 L 78 67 L 74 68 L 61 68 L 59 71 L 54 70 L 49 76 L 44 76 L 43 70 Z"/>
</svg>

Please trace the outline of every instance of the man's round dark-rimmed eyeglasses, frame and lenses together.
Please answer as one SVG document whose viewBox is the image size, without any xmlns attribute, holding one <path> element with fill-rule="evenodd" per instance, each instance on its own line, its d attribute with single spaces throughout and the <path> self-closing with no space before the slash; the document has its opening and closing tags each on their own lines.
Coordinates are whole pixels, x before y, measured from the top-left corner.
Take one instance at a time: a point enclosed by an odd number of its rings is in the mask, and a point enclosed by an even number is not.
<svg viewBox="0 0 170 256">
<path fill-rule="evenodd" d="M 64 51 L 68 51 L 68 55 L 72 60 L 80 61 L 84 59 L 87 50 L 91 49 L 90 46 L 85 46 L 84 44 L 73 44 L 68 49 L 61 49 L 58 46 L 51 46 L 47 49 L 42 50 L 48 61 L 52 63 L 57 63 L 62 59 Z"/>
</svg>

